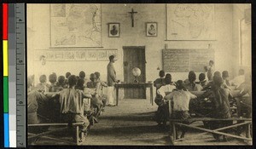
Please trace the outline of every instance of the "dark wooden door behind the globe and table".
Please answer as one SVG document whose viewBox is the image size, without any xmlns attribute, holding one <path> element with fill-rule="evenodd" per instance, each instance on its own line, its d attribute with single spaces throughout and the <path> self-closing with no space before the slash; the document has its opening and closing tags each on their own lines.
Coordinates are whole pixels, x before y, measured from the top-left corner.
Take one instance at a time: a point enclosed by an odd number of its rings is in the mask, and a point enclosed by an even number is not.
<svg viewBox="0 0 256 149">
<path fill-rule="evenodd" d="M 132 68 L 138 67 L 141 70 L 141 76 L 138 77 L 139 83 L 146 82 L 146 60 L 145 60 L 145 47 L 123 47 L 124 49 L 124 77 L 125 83 L 134 83 L 132 75 Z M 125 99 L 145 99 L 145 89 L 125 89 Z"/>
</svg>

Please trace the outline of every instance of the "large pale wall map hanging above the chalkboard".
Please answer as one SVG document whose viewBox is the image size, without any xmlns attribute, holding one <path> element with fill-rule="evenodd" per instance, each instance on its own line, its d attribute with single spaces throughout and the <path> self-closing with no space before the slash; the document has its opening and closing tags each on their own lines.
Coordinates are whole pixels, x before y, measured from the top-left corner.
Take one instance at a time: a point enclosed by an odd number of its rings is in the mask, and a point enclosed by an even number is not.
<svg viewBox="0 0 256 149">
<path fill-rule="evenodd" d="M 166 4 L 167 40 L 215 40 L 213 4 Z"/>
</svg>

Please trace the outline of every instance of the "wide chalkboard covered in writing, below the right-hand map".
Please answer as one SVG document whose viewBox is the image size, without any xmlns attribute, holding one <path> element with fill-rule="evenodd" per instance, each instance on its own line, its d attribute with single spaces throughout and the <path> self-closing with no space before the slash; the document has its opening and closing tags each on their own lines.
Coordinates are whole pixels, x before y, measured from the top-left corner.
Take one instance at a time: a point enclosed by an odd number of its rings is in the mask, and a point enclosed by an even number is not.
<svg viewBox="0 0 256 149">
<path fill-rule="evenodd" d="M 205 72 L 209 60 L 214 60 L 214 49 L 163 49 L 165 72 Z"/>
</svg>

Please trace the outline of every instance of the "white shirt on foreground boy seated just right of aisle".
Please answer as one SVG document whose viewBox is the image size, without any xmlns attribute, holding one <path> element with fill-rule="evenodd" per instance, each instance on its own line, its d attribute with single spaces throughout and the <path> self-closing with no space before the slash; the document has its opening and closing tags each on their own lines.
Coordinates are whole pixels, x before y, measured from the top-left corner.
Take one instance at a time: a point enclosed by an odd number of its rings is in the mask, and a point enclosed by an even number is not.
<svg viewBox="0 0 256 149">
<path fill-rule="evenodd" d="M 175 90 L 170 95 L 166 95 L 166 100 L 173 100 L 173 111 L 189 111 L 189 100 L 195 99 L 196 95 L 189 91 Z"/>
</svg>

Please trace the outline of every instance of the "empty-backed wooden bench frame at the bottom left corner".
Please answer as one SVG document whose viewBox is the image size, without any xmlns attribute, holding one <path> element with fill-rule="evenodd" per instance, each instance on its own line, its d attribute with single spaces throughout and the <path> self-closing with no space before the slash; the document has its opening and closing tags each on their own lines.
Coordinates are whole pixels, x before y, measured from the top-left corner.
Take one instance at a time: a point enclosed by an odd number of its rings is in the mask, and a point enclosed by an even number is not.
<svg viewBox="0 0 256 149">
<path fill-rule="evenodd" d="M 79 130 L 79 126 L 81 126 L 83 123 L 72 123 L 71 125 L 68 123 L 38 123 L 38 124 L 28 124 L 28 128 L 32 128 L 32 127 L 44 127 L 44 126 L 60 126 L 61 128 L 58 129 L 53 129 L 53 130 L 48 130 L 39 134 L 33 134 L 33 133 L 29 133 L 28 132 L 28 136 L 27 139 L 28 141 L 32 141 L 32 139 L 36 139 L 33 143 L 36 143 L 37 138 L 45 138 L 45 139 L 49 139 L 49 140 L 57 140 L 60 142 L 66 142 L 68 145 L 82 145 L 85 137 L 84 135 L 82 135 L 81 140 L 79 141 L 79 135 L 80 135 L 80 130 Z M 69 140 L 64 140 L 64 139 L 60 139 L 60 138 L 55 138 L 55 137 L 50 137 L 50 136 L 46 136 L 55 132 L 60 132 L 63 130 L 70 130 L 71 127 L 75 128 L 75 141 L 69 141 Z"/>
</svg>

